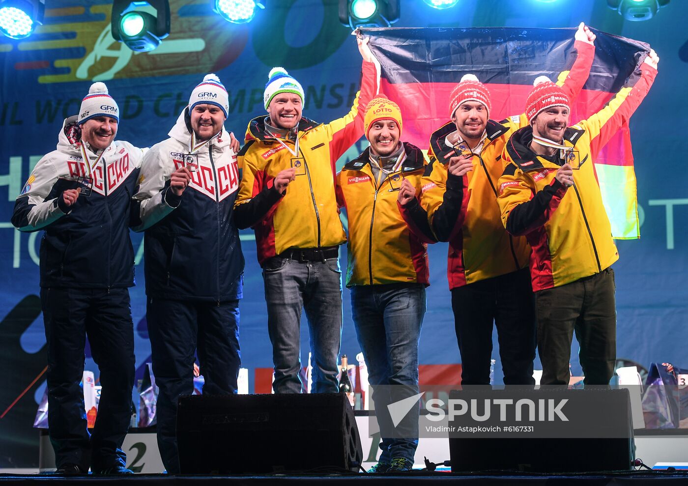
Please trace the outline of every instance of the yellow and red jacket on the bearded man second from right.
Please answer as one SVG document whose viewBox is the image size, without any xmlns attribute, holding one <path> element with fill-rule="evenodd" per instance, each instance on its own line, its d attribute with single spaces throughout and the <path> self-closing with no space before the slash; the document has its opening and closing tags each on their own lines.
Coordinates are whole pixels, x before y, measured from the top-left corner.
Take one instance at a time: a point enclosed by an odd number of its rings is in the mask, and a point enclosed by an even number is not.
<svg viewBox="0 0 688 486">
<path fill-rule="evenodd" d="M 590 74 L 594 46 L 575 41 L 573 56 L 570 71 L 559 74 L 557 81 L 572 102 Z M 436 239 L 449 242 L 450 289 L 518 271 L 528 264 L 526 239 L 504 231 L 497 204 L 497 180 L 505 166 L 504 145 L 514 131 L 526 126 L 525 114 L 501 122 L 488 120 L 480 156 L 473 156 L 473 171 L 462 177 L 447 171 L 449 158 L 458 151 L 471 153 L 465 143 L 456 151 L 445 143 L 447 135 L 456 131 L 454 123 L 443 125 L 430 136 L 430 163 L 422 178 L 420 202 Z"/>
</svg>

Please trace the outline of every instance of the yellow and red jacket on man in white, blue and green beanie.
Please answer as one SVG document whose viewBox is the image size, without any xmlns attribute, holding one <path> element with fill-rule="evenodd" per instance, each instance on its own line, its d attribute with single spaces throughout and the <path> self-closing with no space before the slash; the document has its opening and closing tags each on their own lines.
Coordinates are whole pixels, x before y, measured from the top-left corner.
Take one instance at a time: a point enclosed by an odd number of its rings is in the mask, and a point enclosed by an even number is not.
<svg viewBox="0 0 688 486">
<path fill-rule="evenodd" d="M 241 183 L 235 202 L 239 229 L 255 230 L 258 262 L 288 249 L 337 246 L 346 240 L 334 194 L 335 162 L 363 135 L 363 115 L 377 92 L 374 63 L 363 62 L 361 91 L 343 118 L 331 123 L 299 122 L 299 157 L 265 129 L 265 116 L 248 123 L 239 151 Z M 293 140 L 281 140 L 294 150 Z M 296 180 L 284 196 L 272 186 L 280 171 L 294 167 Z"/>
</svg>

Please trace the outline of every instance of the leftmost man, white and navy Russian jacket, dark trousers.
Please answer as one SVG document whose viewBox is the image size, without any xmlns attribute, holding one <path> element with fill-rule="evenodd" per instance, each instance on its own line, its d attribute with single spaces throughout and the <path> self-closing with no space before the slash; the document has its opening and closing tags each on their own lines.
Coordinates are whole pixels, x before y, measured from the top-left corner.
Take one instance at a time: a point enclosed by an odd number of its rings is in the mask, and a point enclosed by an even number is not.
<svg viewBox="0 0 688 486">
<path fill-rule="evenodd" d="M 19 231 L 45 230 L 48 430 L 60 474 L 86 474 L 89 467 L 131 473 L 122 451 L 136 363 L 129 207 L 143 151 L 114 140 L 118 112 L 105 84 L 94 83 L 78 116 L 65 120 L 57 149 L 34 167 L 12 215 Z M 86 336 L 103 385 L 92 434 L 79 386 Z"/>
</svg>

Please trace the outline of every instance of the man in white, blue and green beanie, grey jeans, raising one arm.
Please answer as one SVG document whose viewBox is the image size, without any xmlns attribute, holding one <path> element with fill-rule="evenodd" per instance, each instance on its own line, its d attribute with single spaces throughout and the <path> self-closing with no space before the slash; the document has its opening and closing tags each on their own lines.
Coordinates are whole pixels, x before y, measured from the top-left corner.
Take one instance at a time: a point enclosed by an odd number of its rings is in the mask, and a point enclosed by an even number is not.
<svg viewBox="0 0 688 486">
<path fill-rule="evenodd" d="M 377 92 L 378 78 L 367 41 L 358 39 L 358 49 L 361 91 L 346 116 L 327 124 L 301 116 L 301 84 L 275 67 L 264 92 L 268 116 L 250 120 L 239 152 L 235 222 L 256 234 L 275 393 L 301 392 L 302 308 L 310 328 L 312 391 L 337 391 L 342 326 L 338 246 L 346 236 L 334 194 L 334 165 L 363 134 L 363 112 Z"/>
</svg>

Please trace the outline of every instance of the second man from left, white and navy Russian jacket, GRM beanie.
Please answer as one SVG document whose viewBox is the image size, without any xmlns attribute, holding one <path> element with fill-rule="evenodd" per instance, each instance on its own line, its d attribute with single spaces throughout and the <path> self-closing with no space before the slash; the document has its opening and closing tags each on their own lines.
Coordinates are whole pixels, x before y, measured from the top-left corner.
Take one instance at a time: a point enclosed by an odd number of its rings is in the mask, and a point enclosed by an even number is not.
<svg viewBox="0 0 688 486">
<path fill-rule="evenodd" d="M 158 446 L 180 472 L 175 416 L 193 392 L 195 352 L 204 393 L 237 392 L 244 257 L 233 220 L 239 143 L 224 129 L 228 95 L 215 74 L 197 85 L 164 140 L 144 157 L 132 213 L 145 231 L 149 337 L 158 394 Z"/>
</svg>

